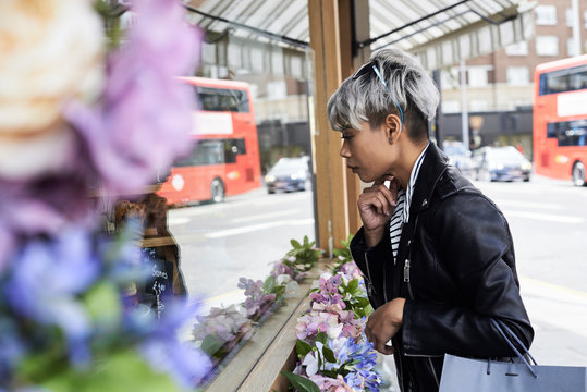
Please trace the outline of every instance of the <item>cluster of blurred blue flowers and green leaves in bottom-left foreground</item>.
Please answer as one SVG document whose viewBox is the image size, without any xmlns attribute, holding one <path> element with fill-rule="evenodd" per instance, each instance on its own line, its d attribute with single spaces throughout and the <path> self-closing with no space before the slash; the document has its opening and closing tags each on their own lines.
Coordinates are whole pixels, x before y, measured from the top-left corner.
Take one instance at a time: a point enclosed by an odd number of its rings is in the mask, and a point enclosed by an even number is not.
<svg viewBox="0 0 587 392">
<path fill-rule="evenodd" d="M 175 336 L 197 307 L 174 304 L 162 321 L 124 309 L 125 287 L 148 272 L 140 252 L 75 229 L 29 242 L 4 274 L 0 342 L 10 344 L 0 350 L 0 389 L 124 391 L 152 382 L 179 390 L 168 375 L 185 388 L 200 382 L 210 358 Z"/>
</svg>

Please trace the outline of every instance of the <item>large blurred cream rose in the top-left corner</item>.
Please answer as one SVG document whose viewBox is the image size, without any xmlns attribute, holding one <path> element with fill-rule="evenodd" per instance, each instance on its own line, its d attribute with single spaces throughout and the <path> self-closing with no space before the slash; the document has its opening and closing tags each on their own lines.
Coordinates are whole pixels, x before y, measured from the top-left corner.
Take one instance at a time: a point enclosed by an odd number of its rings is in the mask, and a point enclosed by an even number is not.
<svg viewBox="0 0 587 392">
<path fill-rule="evenodd" d="M 88 0 L 0 1 L 0 176 L 59 170 L 74 135 L 71 98 L 91 101 L 103 79 L 103 29 Z"/>
</svg>

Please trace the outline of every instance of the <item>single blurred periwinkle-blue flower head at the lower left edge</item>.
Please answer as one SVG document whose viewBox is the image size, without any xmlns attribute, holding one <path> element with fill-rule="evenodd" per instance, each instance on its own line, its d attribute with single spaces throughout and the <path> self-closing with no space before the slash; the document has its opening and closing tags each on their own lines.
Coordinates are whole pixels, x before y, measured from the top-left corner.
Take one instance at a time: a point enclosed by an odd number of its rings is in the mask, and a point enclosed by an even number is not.
<svg viewBox="0 0 587 392">
<path fill-rule="evenodd" d="M 76 297 L 100 273 L 93 241 L 71 228 L 52 241 L 32 241 L 22 248 L 2 294 L 16 314 L 65 332 L 72 360 L 89 360 L 91 332 L 85 307 Z"/>
</svg>

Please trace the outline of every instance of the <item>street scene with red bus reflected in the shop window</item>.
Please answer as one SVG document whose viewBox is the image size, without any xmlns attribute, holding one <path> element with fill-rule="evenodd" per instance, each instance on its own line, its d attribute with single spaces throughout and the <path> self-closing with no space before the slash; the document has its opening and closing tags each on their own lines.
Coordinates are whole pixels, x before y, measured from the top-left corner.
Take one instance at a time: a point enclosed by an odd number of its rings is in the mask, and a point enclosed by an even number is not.
<svg viewBox="0 0 587 392">
<path fill-rule="evenodd" d="M 271 15 L 255 17 L 274 22 Z M 169 231 L 191 299 L 229 306 L 244 299 L 239 278 L 262 280 L 291 238 L 315 240 L 311 64 L 306 48 L 206 17 L 194 21 L 206 44 L 196 77 L 182 78 L 194 87 L 193 148 L 173 164 L 157 195 L 170 206 Z M 284 158 L 304 163 L 296 179 L 289 176 L 295 184 L 268 184 L 269 169 Z"/>
</svg>

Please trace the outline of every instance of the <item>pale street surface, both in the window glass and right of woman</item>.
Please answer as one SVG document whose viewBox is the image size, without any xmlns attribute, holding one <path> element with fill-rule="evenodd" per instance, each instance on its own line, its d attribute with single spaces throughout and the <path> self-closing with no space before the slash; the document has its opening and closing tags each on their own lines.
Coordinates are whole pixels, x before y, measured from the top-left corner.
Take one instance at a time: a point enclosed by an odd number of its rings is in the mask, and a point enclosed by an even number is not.
<svg viewBox="0 0 587 392">
<path fill-rule="evenodd" d="M 536 359 L 587 365 L 587 188 L 537 175 L 529 183 L 475 184 L 510 222 Z M 290 238 L 314 240 L 313 217 L 310 192 L 268 195 L 264 188 L 171 210 L 192 298 L 209 306 L 241 302 L 239 278 L 264 279 Z"/>
</svg>

